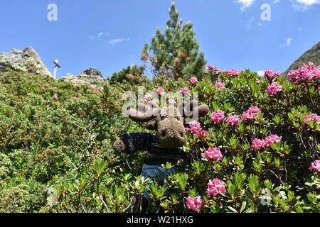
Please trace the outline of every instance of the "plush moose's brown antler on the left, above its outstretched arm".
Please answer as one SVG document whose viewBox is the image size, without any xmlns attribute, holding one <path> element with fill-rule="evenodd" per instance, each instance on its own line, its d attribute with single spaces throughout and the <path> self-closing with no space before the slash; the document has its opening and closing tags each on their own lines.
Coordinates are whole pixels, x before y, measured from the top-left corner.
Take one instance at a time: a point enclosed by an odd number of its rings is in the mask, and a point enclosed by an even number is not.
<svg viewBox="0 0 320 227">
<path fill-rule="evenodd" d="M 146 122 L 156 118 L 159 115 L 160 108 L 157 104 L 151 103 L 154 107 L 138 104 L 138 109 L 129 109 L 128 115 L 132 121 Z"/>
</svg>

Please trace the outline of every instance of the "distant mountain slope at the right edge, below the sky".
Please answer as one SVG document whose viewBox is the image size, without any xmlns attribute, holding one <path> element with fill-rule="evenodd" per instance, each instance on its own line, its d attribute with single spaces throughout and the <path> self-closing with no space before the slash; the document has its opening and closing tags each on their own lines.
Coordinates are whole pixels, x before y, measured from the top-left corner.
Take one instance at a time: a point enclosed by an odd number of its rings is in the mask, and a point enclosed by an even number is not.
<svg viewBox="0 0 320 227">
<path fill-rule="evenodd" d="M 308 64 L 309 62 L 314 62 L 314 65 L 320 65 L 320 42 L 299 57 L 284 74 L 287 74 L 290 70 L 297 70 L 297 68 L 302 67 L 303 63 Z"/>
</svg>

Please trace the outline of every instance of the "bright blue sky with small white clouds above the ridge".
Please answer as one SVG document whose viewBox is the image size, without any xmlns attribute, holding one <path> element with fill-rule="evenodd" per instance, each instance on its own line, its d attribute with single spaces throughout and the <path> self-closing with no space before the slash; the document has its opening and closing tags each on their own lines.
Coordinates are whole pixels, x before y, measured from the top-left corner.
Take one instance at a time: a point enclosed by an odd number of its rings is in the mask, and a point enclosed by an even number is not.
<svg viewBox="0 0 320 227">
<path fill-rule="evenodd" d="M 58 21 L 48 21 L 49 4 Z M 144 43 L 164 31 L 171 0 L 11 0 L 0 8 L 0 52 L 32 46 L 48 70 L 58 59 L 66 73 L 95 67 L 104 77 L 140 60 Z M 262 21 L 262 4 L 271 20 Z M 320 40 L 320 0 L 176 0 L 191 21 L 208 63 L 221 70 L 284 72 Z"/>
</svg>

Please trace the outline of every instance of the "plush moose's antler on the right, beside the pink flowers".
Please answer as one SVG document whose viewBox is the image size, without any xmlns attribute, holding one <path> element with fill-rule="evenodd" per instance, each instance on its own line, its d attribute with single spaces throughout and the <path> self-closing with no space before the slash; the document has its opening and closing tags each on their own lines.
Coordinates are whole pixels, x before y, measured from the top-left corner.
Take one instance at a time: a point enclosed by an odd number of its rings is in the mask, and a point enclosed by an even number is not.
<svg viewBox="0 0 320 227">
<path fill-rule="evenodd" d="M 185 107 L 183 108 L 183 106 Z M 201 118 L 203 116 L 206 116 L 206 114 L 208 114 L 209 106 L 207 105 L 198 106 L 198 102 L 195 100 L 189 101 L 188 104 L 186 103 L 186 101 L 184 101 L 178 106 L 178 110 L 180 111 L 180 114 L 183 117 L 193 118 L 194 116 L 198 116 L 199 118 Z"/>
</svg>

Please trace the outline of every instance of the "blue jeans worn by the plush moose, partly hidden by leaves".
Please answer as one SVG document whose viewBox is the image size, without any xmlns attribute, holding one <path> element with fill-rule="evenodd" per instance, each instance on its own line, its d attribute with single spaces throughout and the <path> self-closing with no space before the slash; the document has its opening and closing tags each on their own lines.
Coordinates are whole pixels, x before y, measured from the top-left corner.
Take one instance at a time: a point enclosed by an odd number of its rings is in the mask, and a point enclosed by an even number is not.
<svg viewBox="0 0 320 227">
<path fill-rule="evenodd" d="M 158 184 L 163 184 L 164 183 L 164 179 L 166 177 L 166 174 L 169 175 L 171 172 L 175 172 L 176 169 L 174 167 L 172 167 L 170 170 L 168 170 L 168 172 L 166 173 L 166 170 L 164 170 L 164 167 L 162 167 L 161 165 L 146 165 L 144 164 L 142 166 L 142 173 L 141 176 L 143 176 L 144 178 L 151 178 L 154 179 L 156 178 L 156 182 L 158 182 Z M 150 187 L 150 184 L 148 184 L 148 187 Z M 148 192 L 148 189 L 144 189 L 144 197 L 146 199 L 150 199 Z"/>
</svg>

